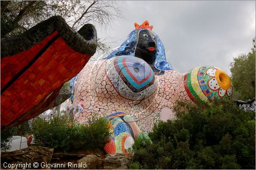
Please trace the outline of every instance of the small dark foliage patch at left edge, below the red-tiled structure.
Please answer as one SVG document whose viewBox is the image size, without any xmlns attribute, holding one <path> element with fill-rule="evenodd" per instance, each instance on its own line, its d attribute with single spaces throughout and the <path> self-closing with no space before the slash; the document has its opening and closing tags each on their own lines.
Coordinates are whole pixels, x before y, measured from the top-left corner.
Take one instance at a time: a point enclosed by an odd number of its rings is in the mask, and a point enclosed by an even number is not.
<svg viewBox="0 0 256 170">
<path fill-rule="evenodd" d="M 10 149 L 11 145 L 9 142 L 11 141 L 14 132 L 14 128 L 1 131 L 1 151 L 7 151 Z"/>
</svg>

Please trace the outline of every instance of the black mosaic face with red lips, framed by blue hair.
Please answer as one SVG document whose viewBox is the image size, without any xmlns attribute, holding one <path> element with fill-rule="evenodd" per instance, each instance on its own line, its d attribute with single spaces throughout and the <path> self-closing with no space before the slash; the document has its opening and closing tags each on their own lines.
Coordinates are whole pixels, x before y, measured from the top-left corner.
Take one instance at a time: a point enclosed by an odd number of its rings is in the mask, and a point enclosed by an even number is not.
<svg viewBox="0 0 256 170">
<path fill-rule="evenodd" d="M 157 39 L 150 30 L 140 30 L 138 43 L 135 49 L 135 57 L 141 58 L 148 64 L 155 62 L 154 55 L 157 52 Z"/>
</svg>

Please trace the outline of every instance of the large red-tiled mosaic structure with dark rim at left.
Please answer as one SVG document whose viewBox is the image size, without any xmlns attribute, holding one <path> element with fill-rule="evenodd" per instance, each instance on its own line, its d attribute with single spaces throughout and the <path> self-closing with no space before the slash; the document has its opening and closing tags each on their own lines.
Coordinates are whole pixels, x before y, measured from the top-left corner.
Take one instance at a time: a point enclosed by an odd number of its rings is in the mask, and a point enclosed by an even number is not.
<svg viewBox="0 0 256 170">
<path fill-rule="evenodd" d="M 1 39 L 1 129 L 60 104 L 60 88 L 86 65 L 96 46 L 93 25 L 76 33 L 60 16 Z"/>
</svg>

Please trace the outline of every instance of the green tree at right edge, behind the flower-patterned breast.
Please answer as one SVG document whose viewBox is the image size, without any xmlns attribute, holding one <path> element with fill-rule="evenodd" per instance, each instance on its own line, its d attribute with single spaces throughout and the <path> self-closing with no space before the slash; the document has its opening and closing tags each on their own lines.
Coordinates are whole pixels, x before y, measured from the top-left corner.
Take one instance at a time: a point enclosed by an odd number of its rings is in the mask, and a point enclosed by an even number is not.
<svg viewBox="0 0 256 170">
<path fill-rule="evenodd" d="M 255 50 L 241 54 L 230 64 L 234 100 L 249 100 L 255 97 Z"/>
</svg>

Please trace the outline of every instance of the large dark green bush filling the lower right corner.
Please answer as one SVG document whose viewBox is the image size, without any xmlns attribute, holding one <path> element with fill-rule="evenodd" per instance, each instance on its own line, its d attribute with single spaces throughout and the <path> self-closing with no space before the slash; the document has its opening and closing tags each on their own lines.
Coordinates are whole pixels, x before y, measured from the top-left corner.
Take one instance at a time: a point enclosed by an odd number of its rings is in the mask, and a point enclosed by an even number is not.
<svg viewBox="0 0 256 170">
<path fill-rule="evenodd" d="M 136 139 L 130 168 L 255 169 L 255 113 L 232 101 L 179 103 L 177 117 Z"/>
</svg>

